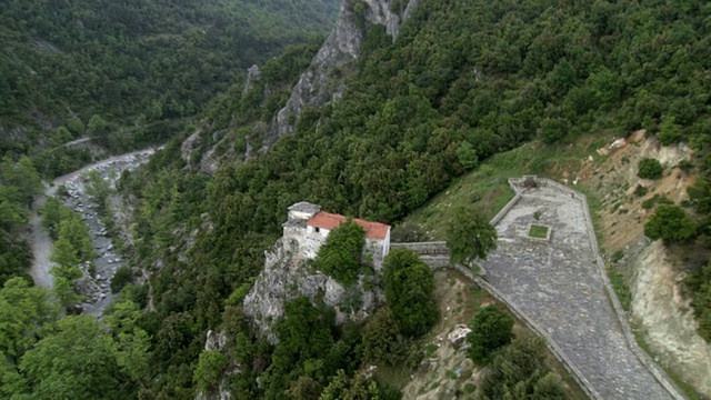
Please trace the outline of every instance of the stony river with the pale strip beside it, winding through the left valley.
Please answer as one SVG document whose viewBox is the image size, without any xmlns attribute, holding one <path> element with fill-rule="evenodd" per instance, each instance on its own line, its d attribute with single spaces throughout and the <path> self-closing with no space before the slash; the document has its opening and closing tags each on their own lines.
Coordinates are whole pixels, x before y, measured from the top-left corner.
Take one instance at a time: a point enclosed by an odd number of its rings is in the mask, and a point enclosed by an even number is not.
<svg viewBox="0 0 711 400">
<path fill-rule="evenodd" d="M 154 151 L 156 149 L 151 148 L 114 156 L 59 177 L 54 179 L 51 186 L 47 187 L 44 196 L 34 201 L 32 216 L 30 218 L 33 254 L 30 274 L 37 286 L 50 290 L 53 287 L 53 277 L 50 273 L 52 268 L 52 262 L 50 261 L 52 240 L 49 233 L 42 228 L 41 217 L 38 216 L 38 210 L 44 206 L 47 197 L 54 196 L 57 189 L 64 184 L 69 191 L 69 196 L 63 199 L 64 204 L 81 214 L 89 227 L 91 240 L 97 251 L 97 259 L 93 261 L 96 274 L 83 279 L 83 281 L 92 288 L 91 296 L 87 297 L 87 302 L 82 303 L 81 307 L 84 313 L 101 317 L 103 309 L 116 298 L 116 296 L 111 293 L 109 282 L 111 278 L 113 278 L 116 270 L 121 266 L 126 266 L 126 260 L 113 251 L 114 244 L 112 239 L 107 236 L 107 229 L 97 214 L 92 199 L 86 192 L 84 172 L 90 170 L 97 171 L 111 187 L 114 187 L 116 179 L 121 177 L 121 172 L 132 170 L 144 163 Z"/>
</svg>

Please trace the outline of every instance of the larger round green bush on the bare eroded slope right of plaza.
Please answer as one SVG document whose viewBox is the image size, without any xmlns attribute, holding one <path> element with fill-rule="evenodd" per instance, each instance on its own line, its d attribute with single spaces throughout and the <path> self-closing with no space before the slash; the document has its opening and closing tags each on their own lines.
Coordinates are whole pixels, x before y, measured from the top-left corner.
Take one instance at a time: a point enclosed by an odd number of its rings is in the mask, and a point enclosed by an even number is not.
<svg viewBox="0 0 711 400">
<path fill-rule="evenodd" d="M 644 223 L 644 234 L 664 242 L 683 242 L 697 234 L 697 223 L 687 211 L 675 204 L 659 204 L 649 221 Z"/>
</svg>

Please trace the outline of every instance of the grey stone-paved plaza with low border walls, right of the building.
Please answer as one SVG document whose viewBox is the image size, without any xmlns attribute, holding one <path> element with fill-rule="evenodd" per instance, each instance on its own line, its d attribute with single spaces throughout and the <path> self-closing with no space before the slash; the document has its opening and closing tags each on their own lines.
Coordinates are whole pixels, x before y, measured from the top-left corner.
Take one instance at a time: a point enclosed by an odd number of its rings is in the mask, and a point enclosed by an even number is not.
<svg viewBox="0 0 711 400">
<path fill-rule="evenodd" d="M 531 224 L 548 226 L 549 241 L 529 238 Z M 601 398 L 672 398 L 625 341 L 579 198 L 555 186 L 523 189 L 497 231 L 499 249 L 481 263 L 485 280 L 548 332 Z"/>
</svg>

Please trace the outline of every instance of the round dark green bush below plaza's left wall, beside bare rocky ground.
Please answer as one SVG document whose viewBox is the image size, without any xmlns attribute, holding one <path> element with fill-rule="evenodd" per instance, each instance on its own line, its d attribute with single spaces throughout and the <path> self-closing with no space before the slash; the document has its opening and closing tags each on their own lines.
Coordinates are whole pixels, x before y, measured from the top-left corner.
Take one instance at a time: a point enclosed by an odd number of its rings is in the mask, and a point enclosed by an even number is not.
<svg viewBox="0 0 711 400">
<path fill-rule="evenodd" d="M 499 311 L 495 306 L 481 309 L 469 322 L 471 333 L 467 337 L 469 358 L 478 366 L 491 361 L 493 354 L 513 339 L 513 318 Z"/>
</svg>

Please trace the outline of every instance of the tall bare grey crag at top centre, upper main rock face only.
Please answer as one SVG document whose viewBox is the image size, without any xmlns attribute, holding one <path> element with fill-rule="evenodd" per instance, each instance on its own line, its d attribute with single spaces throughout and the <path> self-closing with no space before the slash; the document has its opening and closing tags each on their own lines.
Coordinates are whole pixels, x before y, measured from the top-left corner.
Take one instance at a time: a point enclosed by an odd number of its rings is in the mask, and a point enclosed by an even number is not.
<svg viewBox="0 0 711 400">
<path fill-rule="evenodd" d="M 296 121 L 306 107 L 323 107 L 341 97 L 347 76 L 342 72 L 348 71 L 348 67 L 360 56 L 368 27 L 385 26 L 387 32 L 394 40 L 400 24 L 411 16 L 419 0 L 408 0 L 403 10 L 397 10 L 399 7 L 393 6 L 402 3 L 403 1 L 398 0 L 344 0 L 341 3 L 336 30 L 299 79 L 287 106 L 279 111 L 264 147 L 279 137 L 293 132 Z"/>
</svg>

